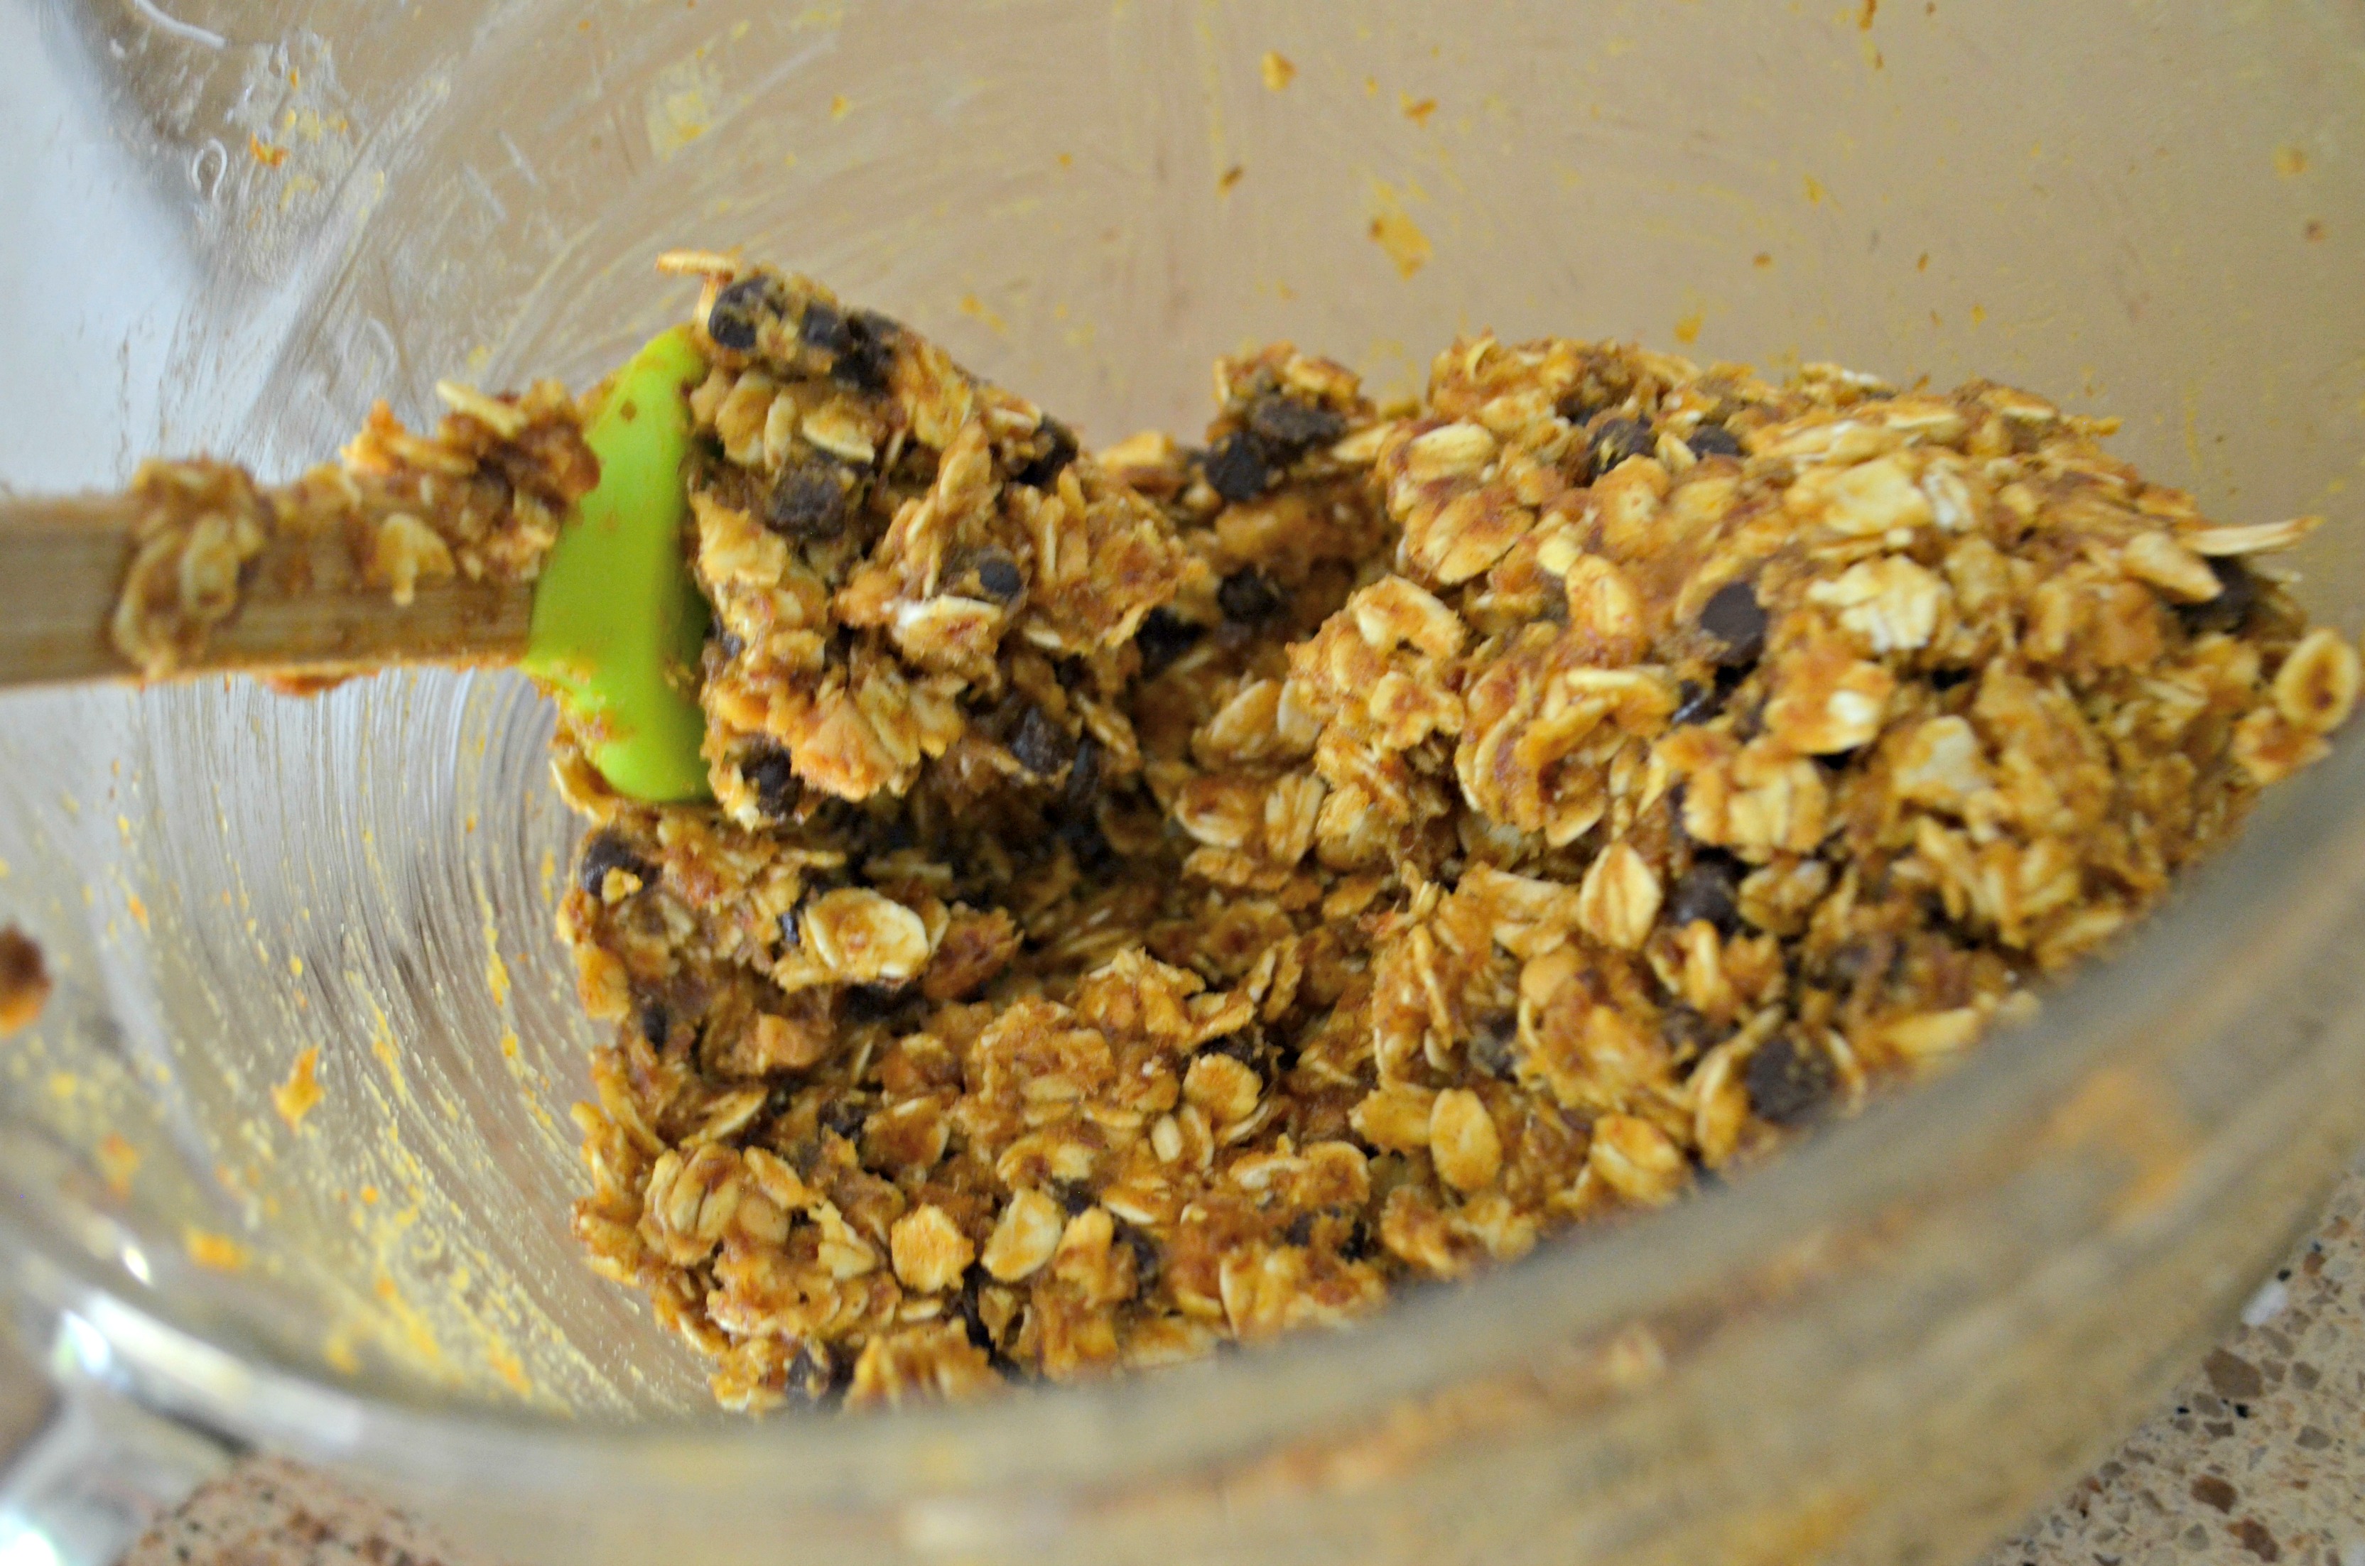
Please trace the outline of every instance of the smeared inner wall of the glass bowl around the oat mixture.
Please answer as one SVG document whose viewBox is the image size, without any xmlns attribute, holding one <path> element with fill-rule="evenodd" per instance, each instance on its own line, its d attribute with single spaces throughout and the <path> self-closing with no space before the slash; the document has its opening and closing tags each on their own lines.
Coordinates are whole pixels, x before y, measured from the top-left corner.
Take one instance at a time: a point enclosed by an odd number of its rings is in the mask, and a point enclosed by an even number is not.
<svg viewBox="0 0 2365 1566">
<path fill-rule="evenodd" d="M 2034 0 L 19 7 L 0 480 L 284 473 L 374 397 L 584 383 L 743 244 L 1090 440 L 1192 435 L 1287 336 L 1419 388 L 1457 331 L 1641 338 L 2126 419 L 2225 520 L 2327 511 L 2356 629 L 2358 19 Z M 2034 40 L 2034 43 L 2032 43 Z M 1294 64 L 1268 85 L 1263 57 Z M 0 1046 L 26 1232 L 215 1341 L 404 1396 L 705 1408 L 568 1235 L 594 1029 L 575 826 L 506 674 L 0 703 Z M 317 1102 L 305 1105 L 305 1081 Z"/>
</svg>

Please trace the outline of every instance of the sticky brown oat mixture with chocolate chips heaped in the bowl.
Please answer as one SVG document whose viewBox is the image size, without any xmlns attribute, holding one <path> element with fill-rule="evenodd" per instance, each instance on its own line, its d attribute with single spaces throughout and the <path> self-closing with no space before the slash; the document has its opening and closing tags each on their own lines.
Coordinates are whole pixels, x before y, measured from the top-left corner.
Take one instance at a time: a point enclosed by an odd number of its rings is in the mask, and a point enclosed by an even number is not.
<svg viewBox="0 0 2365 1566">
<path fill-rule="evenodd" d="M 2001 386 L 1277 345 L 1100 457 L 707 277 L 717 804 L 610 795 L 594 1266 L 733 1408 L 1067 1381 L 1651 1209 L 2034 1010 L 2358 655 Z"/>
</svg>

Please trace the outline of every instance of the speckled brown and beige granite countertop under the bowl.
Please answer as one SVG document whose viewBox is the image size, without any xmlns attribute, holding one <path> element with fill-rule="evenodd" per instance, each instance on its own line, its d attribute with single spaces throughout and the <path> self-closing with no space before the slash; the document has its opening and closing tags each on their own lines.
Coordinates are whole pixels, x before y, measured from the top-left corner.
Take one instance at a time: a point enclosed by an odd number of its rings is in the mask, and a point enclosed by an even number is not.
<svg viewBox="0 0 2365 1566">
<path fill-rule="evenodd" d="M 1980 1566 L 2365 1566 L 2365 1169 L 2143 1429 Z M 428 1528 L 253 1457 L 125 1566 L 466 1566 Z"/>
</svg>

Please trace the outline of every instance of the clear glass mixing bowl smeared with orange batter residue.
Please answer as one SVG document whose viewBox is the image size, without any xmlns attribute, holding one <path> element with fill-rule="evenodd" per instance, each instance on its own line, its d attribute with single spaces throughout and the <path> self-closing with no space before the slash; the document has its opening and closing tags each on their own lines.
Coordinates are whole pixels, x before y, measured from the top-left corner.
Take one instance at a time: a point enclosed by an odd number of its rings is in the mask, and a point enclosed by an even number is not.
<svg viewBox="0 0 2365 1566">
<path fill-rule="evenodd" d="M 1384 393 L 1488 324 L 1989 374 L 2228 520 L 2334 513 L 2353 632 L 2360 62 L 2330 2 L 19 0 L 0 478 L 579 386 L 686 305 L 660 248 L 745 244 L 1097 440 L 1272 336 Z M 1341 1337 L 728 1419 L 568 1237 L 546 729 L 506 674 L 0 703 L 0 918 L 59 975 L 0 1046 L 26 1322 L 501 1559 L 1958 1559 L 2365 1121 L 2348 745 L 2039 1024 L 1731 1190 Z"/>
</svg>

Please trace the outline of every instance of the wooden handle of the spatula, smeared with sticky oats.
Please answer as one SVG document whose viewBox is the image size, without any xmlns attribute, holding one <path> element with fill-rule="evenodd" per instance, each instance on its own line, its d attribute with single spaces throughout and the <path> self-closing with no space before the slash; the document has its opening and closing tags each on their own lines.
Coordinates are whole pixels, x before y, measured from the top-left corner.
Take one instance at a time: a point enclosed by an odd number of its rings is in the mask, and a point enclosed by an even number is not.
<svg viewBox="0 0 2365 1566">
<path fill-rule="evenodd" d="M 319 497 L 307 501 L 317 516 Z M 383 572 L 371 580 L 374 528 L 397 504 L 400 497 L 355 490 L 350 516 L 331 525 L 272 530 L 237 570 L 234 610 L 163 672 L 303 681 L 523 653 L 530 582 L 433 577 L 416 582 L 409 603 L 395 603 Z M 277 506 L 293 509 L 293 501 Z M 137 492 L 0 494 L 0 686 L 158 674 L 135 662 L 114 634 L 125 580 L 156 535 L 156 501 Z"/>
</svg>

